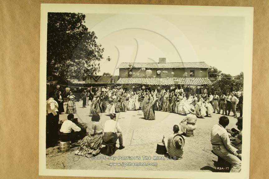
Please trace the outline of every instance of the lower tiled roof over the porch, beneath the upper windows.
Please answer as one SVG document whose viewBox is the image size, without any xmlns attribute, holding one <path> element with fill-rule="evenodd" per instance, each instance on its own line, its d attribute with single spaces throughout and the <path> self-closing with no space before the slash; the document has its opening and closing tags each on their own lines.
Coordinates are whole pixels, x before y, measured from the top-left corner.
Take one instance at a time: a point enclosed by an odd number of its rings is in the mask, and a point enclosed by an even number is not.
<svg viewBox="0 0 269 179">
<path fill-rule="evenodd" d="M 206 85 L 211 84 L 208 78 L 120 78 L 118 84 L 145 84 L 145 85 L 174 85 L 177 79 L 178 85 Z"/>
</svg>

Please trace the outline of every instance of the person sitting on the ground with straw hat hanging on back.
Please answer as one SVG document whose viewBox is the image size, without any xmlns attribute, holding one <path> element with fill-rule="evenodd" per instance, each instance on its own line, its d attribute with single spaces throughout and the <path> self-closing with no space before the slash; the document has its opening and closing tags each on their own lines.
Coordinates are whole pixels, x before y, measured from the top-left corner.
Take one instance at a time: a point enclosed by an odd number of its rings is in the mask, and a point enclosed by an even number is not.
<svg viewBox="0 0 269 179">
<path fill-rule="evenodd" d="M 167 139 L 163 136 L 163 142 L 169 156 L 182 158 L 185 139 L 183 135 L 178 134 L 179 127 L 177 125 L 173 126 L 173 131 L 174 133 L 169 135 Z"/>
</svg>

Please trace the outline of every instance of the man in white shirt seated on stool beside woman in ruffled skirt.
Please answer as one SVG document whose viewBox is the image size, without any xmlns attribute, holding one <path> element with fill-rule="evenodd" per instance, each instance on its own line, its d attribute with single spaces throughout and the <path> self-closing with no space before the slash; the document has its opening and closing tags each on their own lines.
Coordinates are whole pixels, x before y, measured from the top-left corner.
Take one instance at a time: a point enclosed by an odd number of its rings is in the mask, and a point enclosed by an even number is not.
<svg viewBox="0 0 269 179">
<path fill-rule="evenodd" d="M 110 120 L 105 122 L 103 141 L 106 143 L 116 143 L 119 139 L 119 149 L 124 149 L 121 128 L 119 122 L 116 121 L 116 114 L 110 115 Z"/>
</svg>

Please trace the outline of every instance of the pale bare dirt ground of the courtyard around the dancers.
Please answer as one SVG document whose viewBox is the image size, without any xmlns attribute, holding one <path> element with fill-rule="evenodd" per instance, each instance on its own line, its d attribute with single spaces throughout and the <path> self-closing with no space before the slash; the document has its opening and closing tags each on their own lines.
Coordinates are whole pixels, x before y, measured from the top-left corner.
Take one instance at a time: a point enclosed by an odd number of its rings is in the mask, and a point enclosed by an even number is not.
<svg viewBox="0 0 269 179">
<path fill-rule="evenodd" d="M 91 117 L 89 116 L 90 106 L 82 108 L 82 101 L 77 102 L 77 113 L 74 114 L 79 122 L 88 125 L 88 131 L 92 127 Z M 66 108 L 66 106 L 64 106 Z M 233 112 L 231 112 L 233 114 Z M 101 123 L 104 125 L 109 116 L 101 113 Z M 185 117 L 183 115 L 155 111 L 156 119 L 154 121 L 144 120 L 143 112 L 127 111 L 117 113 L 123 134 L 123 145 L 125 149 L 119 150 L 117 141 L 116 152 L 112 157 L 116 160 L 109 160 L 105 155 L 105 146 L 102 145 L 99 159 L 91 159 L 85 156 L 75 155 L 79 148 L 79 143 L 71 145 L 71 150 L 65 153 L 59 152 L 59 146 L 46 149 L 46 168 L 47 169 L 79 169 L 79 170 L 196 170 L 204 172 L 214 172 L 217 157 L 211 153 L 210 130 L 213 125 L 218 123 L 219 114 L 213 114 L 212 117 L 197 119 L 197 129 L 194 131 L 194 137 L 186 137 L 183 158 L 180 160 L 168 160 L 167 155 L 156 153 L 157 143 L 161 142 L 163 135 L 168 137 L 172 134 L 173 125 L 181 122 Z M 235 126 L 237 119 L 229 117 L 230 124 L 227 128 Z M 61 114 L 60 120 L 67 120 L 67 114 Z M 106 159 L 102 158 L 106 156 Z M 139 159 L 119 159 L 118 157 L 140 157 Z M 151 157 L 144 158 L 145 157 Z M 164 159 L 153 160 L 153 156 L 164 156 Z M 157 163 L 157 166 L 110 166 L 110 163 Z M 155 165 L 155 164 L 154 164 Z"/>
</svg>

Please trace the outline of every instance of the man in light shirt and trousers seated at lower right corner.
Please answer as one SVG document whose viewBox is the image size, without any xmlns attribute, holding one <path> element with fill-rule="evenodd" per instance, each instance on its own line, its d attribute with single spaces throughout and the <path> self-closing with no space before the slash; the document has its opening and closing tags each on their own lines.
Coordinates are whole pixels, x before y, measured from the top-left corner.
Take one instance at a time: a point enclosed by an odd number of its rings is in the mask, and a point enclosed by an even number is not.
<svg viewBox="0 0 269 179">
<path fill-rule="evenodd" d="M 229 124 L 226 116 L 219 117 L 219 124 L 215 124 L 211 129 L 211 144 L 213 152 L 231 164 L 230 172 L 241 171 L 241 154 L 237 154 L 229 139 L 225 127 Z"/>
</svg>

